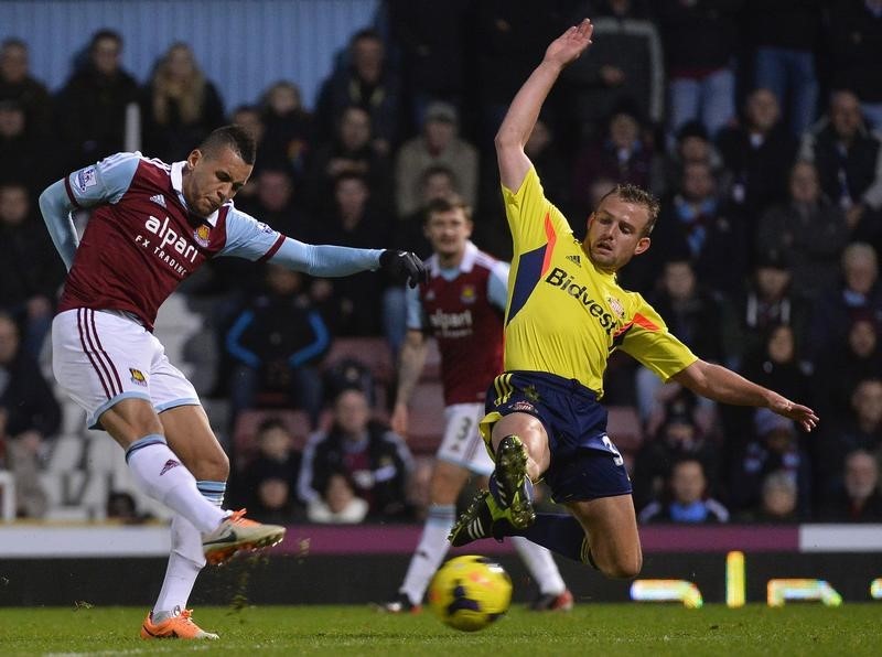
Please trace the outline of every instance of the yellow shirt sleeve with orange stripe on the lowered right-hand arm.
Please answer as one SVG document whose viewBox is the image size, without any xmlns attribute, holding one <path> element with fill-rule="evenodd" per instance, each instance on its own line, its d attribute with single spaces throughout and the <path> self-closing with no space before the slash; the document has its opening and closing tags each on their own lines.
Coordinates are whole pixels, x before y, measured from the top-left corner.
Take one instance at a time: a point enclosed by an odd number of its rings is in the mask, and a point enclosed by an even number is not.
<svg viewBox="0 0 882 657">
<path fill-rule="evenodd" d="M 617 333 L 620 348 L 667 381 L 698 360 L 689 347 L 675 337 L 662 316 L 639 294 L 632 321 Z"/>
</svg>

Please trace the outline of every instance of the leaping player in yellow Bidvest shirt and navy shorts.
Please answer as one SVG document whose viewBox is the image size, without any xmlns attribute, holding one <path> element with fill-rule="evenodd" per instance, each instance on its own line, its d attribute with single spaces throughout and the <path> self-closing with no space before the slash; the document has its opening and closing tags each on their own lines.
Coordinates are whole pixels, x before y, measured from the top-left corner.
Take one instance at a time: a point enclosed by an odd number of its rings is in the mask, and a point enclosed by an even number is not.
<svg viewBox="0 0 882 657">
<path fill-rule="evenodd" d="M 658 204 L 634 186 L 614 189 L 578 241 L 545 197 L 524 152 L 539 109 L 563 67 L 591 43 L 585 19 L 555 40 L 512 101 L 496 154 L 515 258 L 505 316 L 505 373 L 487 392 L 484 439 L 496 470 L 451 531 L 454 546 L 475 538 L 525 536 L 609 577 L 642 567 L 631 482 L 606 435 L 598 400 L 612 351 L 620 348 L 665 380 L 721 402 L 770 408 L 806 431 L 815 412 L 741 376 L 698 359 L 668 333 L 615 272 L 649 248 Z M 531 482 L 545 477 L 571 515 L 536 515 Z"/>
</svg>

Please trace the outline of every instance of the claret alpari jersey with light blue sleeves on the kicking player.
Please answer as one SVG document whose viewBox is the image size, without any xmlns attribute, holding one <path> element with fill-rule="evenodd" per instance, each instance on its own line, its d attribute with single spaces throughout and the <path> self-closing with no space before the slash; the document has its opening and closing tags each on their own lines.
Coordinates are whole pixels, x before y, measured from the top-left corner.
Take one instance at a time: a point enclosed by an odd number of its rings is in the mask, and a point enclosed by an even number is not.
<svg viewBox="0 0 882 657">
<path fill-rule="evenodd" d="M 118 310 L 150 330 L 178 284 L 217 256 L 272 258 L 315 276 L 378 268 L 380 250 L 305 245 L 232 202 L 208 217 L 195 216 L 183 196 L 184 165 L 117 153 L 43 192 L 43 217 L 69 270 L 58 312 Z M 93 213 L 77 246 L 69 212 L 79 207 Z"/>
</svg>

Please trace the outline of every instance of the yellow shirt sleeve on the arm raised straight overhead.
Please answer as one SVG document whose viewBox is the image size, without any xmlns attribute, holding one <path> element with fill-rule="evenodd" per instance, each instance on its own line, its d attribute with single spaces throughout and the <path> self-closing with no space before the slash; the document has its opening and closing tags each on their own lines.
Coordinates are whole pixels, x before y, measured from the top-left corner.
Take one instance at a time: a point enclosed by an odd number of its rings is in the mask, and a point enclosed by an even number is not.
<svg viewBox="0 0 882 657">
<path fill-rule="evenodd" d="M 546 198 L 535 166 L 530 166 L 520 189 L 512 191 L 505 185 L 502 189 L 515 252 L 529 251 L 572 234 L 566 217 Z"/>
</svg>

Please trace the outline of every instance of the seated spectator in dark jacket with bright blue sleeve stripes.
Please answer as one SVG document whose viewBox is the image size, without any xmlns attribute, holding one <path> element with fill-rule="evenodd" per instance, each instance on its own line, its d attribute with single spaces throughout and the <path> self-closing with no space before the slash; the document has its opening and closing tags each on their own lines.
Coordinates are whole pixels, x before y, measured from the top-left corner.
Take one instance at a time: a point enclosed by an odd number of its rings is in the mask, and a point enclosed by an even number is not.
<svg viewBox="0 0 882 657">
<path fill-rule="evenodd" d="M 236 362 L 229 381 L 234 414 L 258 406 L 261 392 L 277 392 L 286 405 L 305 410 L 315 426 L 323 405 L 318 365 L 330 345 L 303 274 L 267 265 L 262 293 L 240 310 L 226 336 Z"/>
</svg>

